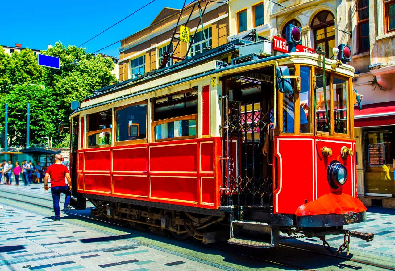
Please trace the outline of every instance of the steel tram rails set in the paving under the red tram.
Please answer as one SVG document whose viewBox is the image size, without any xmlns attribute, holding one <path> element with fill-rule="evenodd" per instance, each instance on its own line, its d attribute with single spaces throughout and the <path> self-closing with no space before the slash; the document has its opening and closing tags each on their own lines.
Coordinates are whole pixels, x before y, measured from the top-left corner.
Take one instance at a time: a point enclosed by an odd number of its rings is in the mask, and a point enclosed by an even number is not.
<svg viewBox="0 0 395 271">
<path fill-rule="evenodd" d="M 49 197 L 47 197 L 47 198 L 44 197 L 43 198 L 43 197 L 40 197 L 40 196 L 34 196 L 34 195 L 31 195 L 31 194 L 26 194 L 26 193 L 15 193 L 14 191 L 11 192 L 11 191 L 0 190 L 0 195 L 3 198 L 7 198 L 7 199 L 11 199 L 13 201 L 19 201 L 19 202 L 23 202 L 23 203 L 27 203 L 27 204 L 33 204 L 33 203 L 32 203 L 32 201 L 29 201 L 27 199 L 20 199 L 20 198 L 19 199 L 15 199 L 15 197 L 12 197 L 12 196 L 4 196 L 4 194 L 2 194 L 2 193 L 11 194 L 11 195 L 17 195 L 17 196 L 21 196 L 21 197 L 28 197 L 28 198 L 38 199 L 39 201 L 41 201 L 41 203 L 38 203 L 36 201 L 36 202 L 34 202 L 34 205 L 40 206 L 40 207 L 43 207 L 43 208 L 46 208 L 46 209 L 51 209 L 51 210 L 53 209 L 52 205 L 45 204 L 48 201 L 50 201 L 52 203 L 52 199 L 49 198 Z M 90 207 L 88 207 L 88 208 L 90 209 Z M 98 219 L 98 218 L 94 218 L 92 216 L 80 215 L 80 214 L 76 214 L 76 213 L 74 213 L 72 211 L 67 211 L 67 210 L 64 210 L 63 212 L 68 214 L 68 215 L 79 216 L 79 217 L 82 217 L 82 218 L 86 218 L 88 220 L 95 220 L 95 221 L 104 222 L 104 223 L 112 224 L 112 225 L 115 225 L 115 226 L 123 227 L 121 224 L 117 224 L 117 223 L 111 222 L 109 220 Z M 202 245 L 202 244 L 200 244 L 200 245 Z M 276 264 L 276 265 L 281 265 L 281 266 L 284 266 L 284 267 L 293 268 L 293 269 L 296 269 L 296 270 L 306 270 L 306 271 L 310 271 L 310 270 L 314 271 L 315 270 L 315 269 L 306 269 L 305 267 L 296 266 L 296 265 L 293 265 L 293 264 L 282 263 L 282 262 L 279 262 L 279 261 L 276 261 L 276 260 L 269 260 L 267 258 L 262 258 L 262 257 L 259 257 L 259 256 L 253 256 L 251 254 L 235 252 L 230 247 L 229 248 L 224 248 L 224 247 L 218 247 L 218 246 L 215 246 L 215 245 L 212 245 L 212 244 L 210 244 L 210 245 L 203 245 L 203 246 L 215 248 L 215 249 L 218 249 L 218 250 L 222 250 L 222 251 L 226 251 L 226 252 L 230 252 L 230 253 L 234 253 L 234 254 L 239 254 L 241 256 L 246 256 L 248 258 L 252 258 L 252 259 L 255 259 L 255 260 L 261 260 L 261 261 L 273 263 L 273 264 Z M 363 264 L 363 265 L 367 265 L 367 266 L 371 266 L 371 267 L 377 267 L 377 268 L 382 268 L 382 269 L 386 269 L 386 270 L 393 270 L 393 271 L 395 271 L 395 267 L 391 267 L 391 266 L 388 266 L 388 265 L 382 265 L 382 264 L 379 264 L 379 263 L 374 263 L 374 262 L 369 262 L 369 261 L 364 261 L 364 260 L 358 260 L 358 259 L 353 259 L 353 258 L 347 258 L 347 257 L 340 256 L 340 255 L 332 255 L 332 254 L 327 254 L 327 253 L 320 252 L 320 251 L 309 250 L 309 249 L 306 249 L 306 248 L 294 247 L 294 246 L 284 245 L 284 244 L 280 244 L 279 247 L 290 248 L 290 249 L 294 249 L 294 250 L 301 250 L 301 251 L 309 252 L 309 253 L 312 253 L 312 254 L 320 254 L 322 256 L 327 256 L 329 258 L 337 258 L 337 259 L 350 261 L 350 262 L 354 262 L 354 263 L 359 263 L 359 264 Z"/>
</svg>

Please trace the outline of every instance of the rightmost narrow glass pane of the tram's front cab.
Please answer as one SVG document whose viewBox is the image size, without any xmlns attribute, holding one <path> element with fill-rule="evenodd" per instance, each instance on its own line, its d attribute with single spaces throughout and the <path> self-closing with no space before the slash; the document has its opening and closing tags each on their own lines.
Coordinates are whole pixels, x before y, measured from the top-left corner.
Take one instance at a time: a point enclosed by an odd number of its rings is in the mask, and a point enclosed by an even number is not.
<svg viewBox="0 0 395 271">
<path fill-rule="evenodd" d="M 335 133 L 347 134 L 347 82 L 333 77 L 333 115 Z"/>
</svg>

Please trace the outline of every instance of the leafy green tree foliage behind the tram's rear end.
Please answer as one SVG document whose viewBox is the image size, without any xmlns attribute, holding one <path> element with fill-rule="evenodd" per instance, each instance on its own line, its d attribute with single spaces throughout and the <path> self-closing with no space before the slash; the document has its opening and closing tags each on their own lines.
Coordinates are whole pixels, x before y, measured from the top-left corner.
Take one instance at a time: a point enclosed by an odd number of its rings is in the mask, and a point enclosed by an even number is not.
<svg viewBox="0 0 395 271">
<path fill-rule="evenodd" d="M 111 74 L 111 58 L 96 57 L 73 45 L 58 42 L 42 54 L 60 58 L 61 68 L 37 65 L 37 57 L 30 49 L 9 56 L 0 47 L 0 122 L 4 123 L 4 105 L 8 104 L 9 145 L 26 143 L 26 107 L 30 103 L 30 142 L 39 143 L 40 137 L 57 137 L 60 121 L 69 125 L 70 103 L 82 102 L 93 90 L 116 83 Z M 44 86 L 44 87 L 41 87 Z M 42 89 L 43 88 L 43 89 Z M 4 132 L 4 125 L 0 127 Z"/>
</svg>

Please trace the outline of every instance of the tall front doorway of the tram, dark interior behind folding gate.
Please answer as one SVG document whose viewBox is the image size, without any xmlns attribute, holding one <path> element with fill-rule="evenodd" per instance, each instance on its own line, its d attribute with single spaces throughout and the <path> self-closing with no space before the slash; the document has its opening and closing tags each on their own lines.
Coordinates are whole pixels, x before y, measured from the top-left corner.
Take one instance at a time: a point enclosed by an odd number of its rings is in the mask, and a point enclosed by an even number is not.
<svg viewBox="0 0 395 271">
<path fill-rule="evenodd" d="M 223 132 L 223 149 L 225 155 L 229 149 L 230 159 L 228 163 L 224 162 L 223 172 L 229 171 L 229 174 L 224 174 L 224 187 L 229 184 L 230 193 L 223 197 L 223 205 L 273 204 L 272 170 L 270 161 L 262 153 L 273 112 L 270 110 L 273 84 L 259 81 L 261 77 L 265 76 L 254 73 L 236 79 L 233 77 L 233 82 L 224 81 L 229 98 L 228 114 L 224 114 L 223 120 L 229 133 Z M 223 112 L 226 112 L 226 106 Z"/>
</svg>

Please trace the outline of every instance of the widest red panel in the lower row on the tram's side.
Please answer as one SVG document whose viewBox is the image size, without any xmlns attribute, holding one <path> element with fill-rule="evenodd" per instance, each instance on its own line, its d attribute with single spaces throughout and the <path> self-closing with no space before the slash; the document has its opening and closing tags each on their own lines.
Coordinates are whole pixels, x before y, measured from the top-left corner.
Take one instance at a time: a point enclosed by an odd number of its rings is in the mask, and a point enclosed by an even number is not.
<svg viewBox="0 0 395 271">
<path fill-rule="evenodd" d="M 198 178 L 151 176 L 151 197 L 197 202 Z"/>
</svg>

